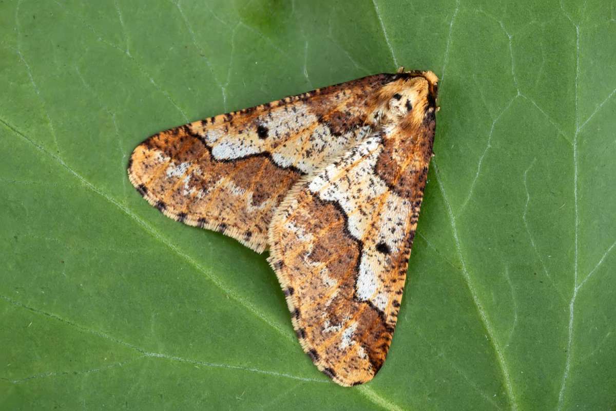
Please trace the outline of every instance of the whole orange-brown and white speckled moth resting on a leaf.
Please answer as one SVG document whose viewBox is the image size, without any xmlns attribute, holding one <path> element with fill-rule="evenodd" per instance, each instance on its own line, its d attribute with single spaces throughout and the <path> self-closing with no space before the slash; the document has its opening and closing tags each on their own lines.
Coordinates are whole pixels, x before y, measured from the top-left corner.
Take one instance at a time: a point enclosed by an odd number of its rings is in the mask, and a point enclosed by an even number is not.
<svg viewBox="0 0 616 411">
<path fill-rule="evenodd" d="M 342 386 L 392 341 L 436 128 L 432 71 L 367 76 L 159 132 L 128 175 L 166 216 L 269 259 L 293 327 Z"/>
</svg>

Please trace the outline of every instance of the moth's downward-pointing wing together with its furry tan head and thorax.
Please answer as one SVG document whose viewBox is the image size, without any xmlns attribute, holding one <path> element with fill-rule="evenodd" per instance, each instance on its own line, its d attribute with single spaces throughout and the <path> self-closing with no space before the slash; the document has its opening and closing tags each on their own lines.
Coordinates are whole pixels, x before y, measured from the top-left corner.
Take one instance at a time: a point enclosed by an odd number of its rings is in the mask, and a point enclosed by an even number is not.
<svg viewBox="0 0 616 411">
<path fill-rule="evenodd" d="M 375 132 L 302 177 L 270 225 L 269 261 L 298 339 L 339 385 L 370 381 L 392 341 L 432 157 L 437 81 L 422 72 L 381 96 L 387 109 Z"/>
</svg>

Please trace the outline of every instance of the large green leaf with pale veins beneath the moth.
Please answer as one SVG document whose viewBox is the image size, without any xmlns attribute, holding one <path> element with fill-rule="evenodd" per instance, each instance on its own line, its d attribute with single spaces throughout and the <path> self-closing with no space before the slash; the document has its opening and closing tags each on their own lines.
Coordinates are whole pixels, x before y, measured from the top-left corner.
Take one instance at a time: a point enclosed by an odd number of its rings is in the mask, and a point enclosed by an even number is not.
<svg viewBox="0 0 616 411">
<path fill-rule="evenodd" d="M 616 9 L 601 0 L 0 2 L 0 408 L 616 407 Z M 312 365 L 265 257 L 149 206 L 146 136 L 439 75 L 389 358 Z"/>
</svg>

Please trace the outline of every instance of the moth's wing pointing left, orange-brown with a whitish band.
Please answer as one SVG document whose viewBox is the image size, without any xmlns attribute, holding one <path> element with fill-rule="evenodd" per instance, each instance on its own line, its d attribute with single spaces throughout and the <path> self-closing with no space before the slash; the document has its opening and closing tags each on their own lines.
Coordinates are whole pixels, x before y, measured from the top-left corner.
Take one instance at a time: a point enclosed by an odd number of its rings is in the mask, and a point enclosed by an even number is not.
<svg viewBox="0 0 616 411">
<path fill-rule="evenodd" d="M 157 133 L 132 153 L 129 179 L 166 216 L 261 253 L 286 193 L 367 136 L 380 120 L 370 96 L 398 76 L 367 76 Z"/>
</svg>

